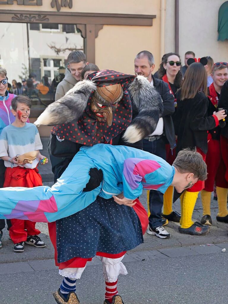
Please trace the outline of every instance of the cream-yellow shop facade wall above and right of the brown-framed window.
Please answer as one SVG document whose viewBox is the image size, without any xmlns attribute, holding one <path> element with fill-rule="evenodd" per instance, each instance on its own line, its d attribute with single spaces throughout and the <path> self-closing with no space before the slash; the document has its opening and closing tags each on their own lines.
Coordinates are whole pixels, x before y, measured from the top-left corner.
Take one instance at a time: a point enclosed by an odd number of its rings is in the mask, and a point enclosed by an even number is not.
<svg viewBox="0 0 228 304">
<path fill-rule="evenodd" d="M 15 1 L 16 3 L 16 1 Z M 51 0 L 43 0 L 43 6 L 0 5 L 0 9 L 56 11 Z M 155 69 L 160 63 L 160 5 L 161 0 L 73 0 L 73 8 L 61 8 L 61 12 L 93 12 L 156 15 L 153 26 L 105 25 L 95 41 L 95 63 L 100 69 L 114 69 L 134 73 L 134 58 L 142 50 L 154 54 Z"/>
</svg>

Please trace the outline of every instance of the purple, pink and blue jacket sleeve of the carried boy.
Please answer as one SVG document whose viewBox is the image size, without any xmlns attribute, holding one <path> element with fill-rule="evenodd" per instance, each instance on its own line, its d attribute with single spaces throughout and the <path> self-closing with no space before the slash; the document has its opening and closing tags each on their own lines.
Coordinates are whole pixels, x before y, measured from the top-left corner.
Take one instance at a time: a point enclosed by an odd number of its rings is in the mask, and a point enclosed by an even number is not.
<svg viewBox="0 0 228 304">
<path fill-rule="evenodd" d="M 123 194 L 127 199 L 136 199 L 144 189 L 162 193 L 171 185 L 174 169 L 165 161 L 127 158 L 123 165 Z"/>
</svg>

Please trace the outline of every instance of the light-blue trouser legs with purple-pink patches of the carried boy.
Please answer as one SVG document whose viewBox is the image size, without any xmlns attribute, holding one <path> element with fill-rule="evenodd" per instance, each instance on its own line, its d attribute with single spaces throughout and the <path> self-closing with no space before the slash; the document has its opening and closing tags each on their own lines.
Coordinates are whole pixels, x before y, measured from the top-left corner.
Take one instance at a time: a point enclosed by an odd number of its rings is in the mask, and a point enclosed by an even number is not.
<svg viewBox="0 0 228 304">
<path fill-rule="evenodd" d="M 93 191 L 83 192 L 92 165 L 88 157 L 78 152 L 51 188 L 0 188 L 0 219 L 54 222 L 81 211 L 95 201 L 101 190 L 100 185 Z"/>
</svg>

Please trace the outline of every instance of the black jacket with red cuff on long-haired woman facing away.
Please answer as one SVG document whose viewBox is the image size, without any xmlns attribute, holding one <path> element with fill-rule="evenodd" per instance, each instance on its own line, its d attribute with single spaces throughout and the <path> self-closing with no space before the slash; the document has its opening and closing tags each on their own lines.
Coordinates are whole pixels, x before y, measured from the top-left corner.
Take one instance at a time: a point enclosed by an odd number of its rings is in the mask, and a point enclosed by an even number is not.
<svg viewBox="0 0 228 304">
<path fill-rule="evenodd" d="M 209 100 L 203 92 L 194 98 L 181 100 L 181 90 L 177 93 L 177 115 L 174 119 L 178 136 L 177 152 L 188 147 L 198 147 L 207 153 L 207 130 L 218 126 L 216 116 L 207 116 Z"/>
</svg>

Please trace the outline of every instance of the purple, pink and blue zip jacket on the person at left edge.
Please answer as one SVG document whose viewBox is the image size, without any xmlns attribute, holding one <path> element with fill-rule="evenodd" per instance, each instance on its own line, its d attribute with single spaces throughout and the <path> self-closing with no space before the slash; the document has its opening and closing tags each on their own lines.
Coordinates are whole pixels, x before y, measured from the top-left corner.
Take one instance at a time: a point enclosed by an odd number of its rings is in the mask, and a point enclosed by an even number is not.
<svg viewBox="0 0 228 304">
<path fill-rule="evenodd" d="M 11 113 L 11 101 L 16 97 L 14 94 L 10 94 L 6 91 L 6 96 L 0 96 L 0 134 L 2 129 L 14 122 L 15 117 Z"/>
</svg>

